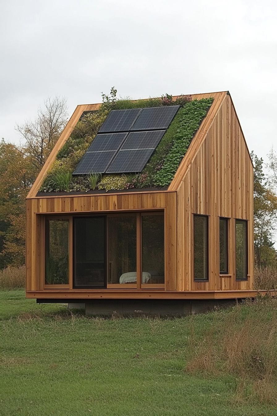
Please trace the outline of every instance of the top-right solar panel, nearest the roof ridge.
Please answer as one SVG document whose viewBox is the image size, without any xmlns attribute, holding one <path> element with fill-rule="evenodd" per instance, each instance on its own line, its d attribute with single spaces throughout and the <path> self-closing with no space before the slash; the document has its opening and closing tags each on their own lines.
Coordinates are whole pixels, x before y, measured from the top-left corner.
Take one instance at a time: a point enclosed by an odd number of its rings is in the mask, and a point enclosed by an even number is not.
<svg viewBox="0 0 277 416">
<path fill-rule="evenodd" d="M 142 109 L 131 130 L 167 129 L 179 105 Z"/>
</svg>

